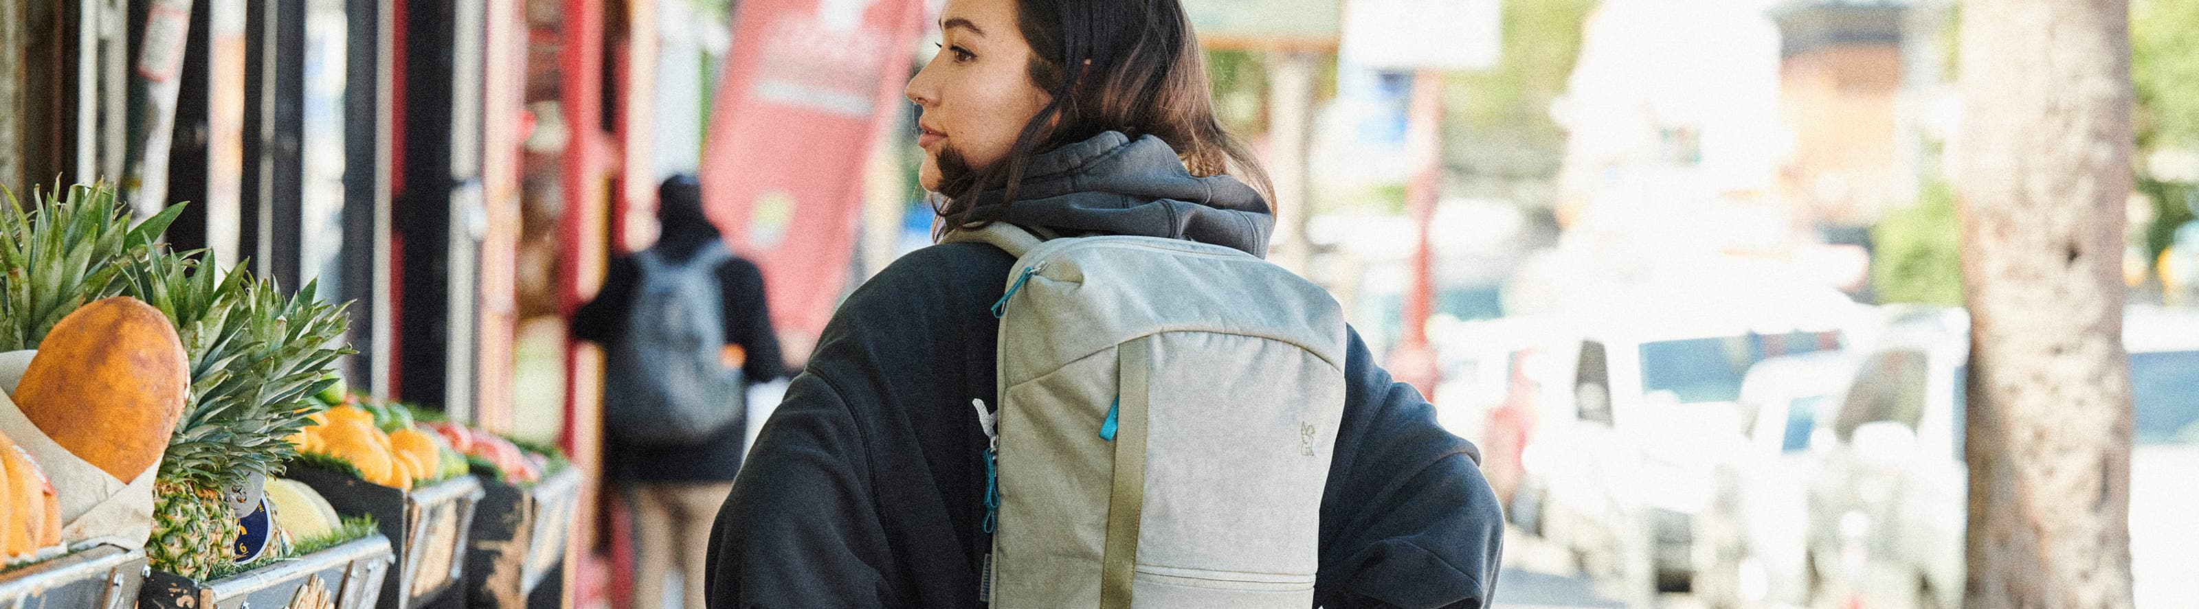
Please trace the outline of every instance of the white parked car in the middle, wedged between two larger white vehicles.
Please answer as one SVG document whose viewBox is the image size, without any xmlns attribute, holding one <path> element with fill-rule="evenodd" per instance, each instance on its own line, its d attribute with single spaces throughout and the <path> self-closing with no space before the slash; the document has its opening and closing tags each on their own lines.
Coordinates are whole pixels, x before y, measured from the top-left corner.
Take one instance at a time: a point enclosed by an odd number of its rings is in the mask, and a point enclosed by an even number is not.
<svg viewBox="0 0 2199 609">
<path fill-rule="evenodd" d="M 1695 596 L 1711 607 L 1810 602 L 1808 481 L 1830 420 L 1854 380 L 1849 352 L 1766 358 L 1742 378 L 1742 444 L 1724 453 L 1695 536 Z"/>
</svg>

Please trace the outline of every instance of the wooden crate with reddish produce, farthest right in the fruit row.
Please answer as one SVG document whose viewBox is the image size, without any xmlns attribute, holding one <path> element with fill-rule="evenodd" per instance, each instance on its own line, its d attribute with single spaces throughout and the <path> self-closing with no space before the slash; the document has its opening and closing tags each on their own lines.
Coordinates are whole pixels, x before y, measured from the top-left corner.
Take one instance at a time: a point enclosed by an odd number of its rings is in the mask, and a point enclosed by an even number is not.
<svg viewBox="0 0 2199 609">
<path fill-rule="evenodd" d="M 479 479 L 488 495 L 473 512 L 468 607 L 561 607 L 565 545 L 581 508 L 581 470 L 567 466 L 534 486 Z"/>
</svg>

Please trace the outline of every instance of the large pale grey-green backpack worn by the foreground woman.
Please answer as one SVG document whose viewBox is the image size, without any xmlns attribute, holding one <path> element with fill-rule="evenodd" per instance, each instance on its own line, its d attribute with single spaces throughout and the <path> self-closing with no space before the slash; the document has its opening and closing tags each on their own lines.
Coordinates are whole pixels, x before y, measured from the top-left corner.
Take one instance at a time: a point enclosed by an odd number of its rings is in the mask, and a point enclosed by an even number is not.
<svg viewBox="0 0 2199 609">
<path fill-rule="evenodd" d="M 1344 314 L 1253 255 L 990 224 L 1001 317 L 981 598 L 998 609 L 1313 605 Z M 994 435 L 996 433 L 996 435 Z"/>
</svg>

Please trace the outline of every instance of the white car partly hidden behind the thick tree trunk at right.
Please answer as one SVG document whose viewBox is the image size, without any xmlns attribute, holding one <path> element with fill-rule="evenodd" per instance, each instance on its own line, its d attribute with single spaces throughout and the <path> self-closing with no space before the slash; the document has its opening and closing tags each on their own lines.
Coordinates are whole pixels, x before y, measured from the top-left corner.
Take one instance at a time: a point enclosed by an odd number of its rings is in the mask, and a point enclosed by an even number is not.
<svg viewBox="0 0 2199 609">
<path fill-rule="evenodd" d="M 1968 314 L 1942 310 L 1887 332 L 1832 422 L 1810 490 L 1810 565 L 1821 600 L 1962 607 L 1968 466 Z M 2131 308 L 2131 558 L 2137 607 L 2199 598 L 2199 310 Z"/>
</svg>

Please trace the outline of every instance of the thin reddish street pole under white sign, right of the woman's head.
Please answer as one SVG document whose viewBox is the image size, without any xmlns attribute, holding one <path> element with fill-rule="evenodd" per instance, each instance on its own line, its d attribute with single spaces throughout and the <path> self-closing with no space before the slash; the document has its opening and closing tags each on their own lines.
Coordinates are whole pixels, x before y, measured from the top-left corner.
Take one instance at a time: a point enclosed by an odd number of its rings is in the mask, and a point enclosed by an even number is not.
<svg viewBox="0 0 2199 609">
<path fill-rule="evenodd" d="M 1421 68 L 1412 77 L 1412 108 L 1405 117 L 1405 147 L 1412 150 L 1412 180 L 1405 182 L 1405 207 L 1412 213 L 1418 246 L 1412 253 L 1412 290 L 1405 292 L 1405 328 L 1390 354 L 1390 374 L 1412 383 L 1421 396 L 1436 394 L 1436 350 L 1427 345 L 1427 319 L 1436 308 L 1434 253 L 1429 224 L 1436 218 L 1436 189 L 1443 178 L 1443 73 Z"/>
</svg>

